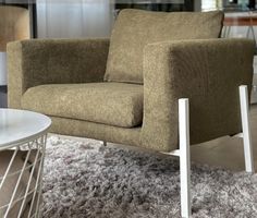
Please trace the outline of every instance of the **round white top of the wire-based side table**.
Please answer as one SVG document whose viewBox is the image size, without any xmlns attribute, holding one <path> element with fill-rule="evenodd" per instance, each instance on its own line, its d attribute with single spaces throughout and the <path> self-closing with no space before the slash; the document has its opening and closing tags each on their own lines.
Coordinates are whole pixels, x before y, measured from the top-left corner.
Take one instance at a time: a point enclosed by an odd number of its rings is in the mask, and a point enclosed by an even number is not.
<svg viewBox="0 0 257 218">
<path fill-rule="evenodd" d="M 47 132 L 51 119 L 27 110 L 0 108 L 0 149 L 27 142 Z"/>
</svg>

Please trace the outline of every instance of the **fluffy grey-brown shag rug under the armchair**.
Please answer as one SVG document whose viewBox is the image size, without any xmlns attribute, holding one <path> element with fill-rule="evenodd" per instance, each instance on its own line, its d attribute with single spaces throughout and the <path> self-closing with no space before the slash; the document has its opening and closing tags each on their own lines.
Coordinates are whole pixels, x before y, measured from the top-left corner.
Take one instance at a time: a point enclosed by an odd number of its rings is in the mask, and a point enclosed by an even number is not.
<svg viewBox="0 0 257 218">
<path fill-rule="evenodd" d="M 170 156 L 50 136 L 44 218 L 179 218 L 180 166 Z M 257 217 L 257 175 L 192 166 L 193 217 Z"/>
</svg>

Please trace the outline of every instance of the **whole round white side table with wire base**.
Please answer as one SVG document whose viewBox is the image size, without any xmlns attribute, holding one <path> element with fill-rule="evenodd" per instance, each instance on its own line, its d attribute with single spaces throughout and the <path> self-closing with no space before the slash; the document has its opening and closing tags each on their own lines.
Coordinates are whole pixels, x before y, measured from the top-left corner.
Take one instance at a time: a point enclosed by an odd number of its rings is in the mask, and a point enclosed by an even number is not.
<svg viewBox="0 0 257 218">
<path fill-rule="evenodd" d="M 40 216 L 41 174 L 50 125 L 50 118 L 40 113 L 0 109 L 0 168 L 5 165 L 1 169 L 4 173 L 0 173 L 0 217 L 23 217 L 24 213 L 25 217 Z"/>
</svg>

